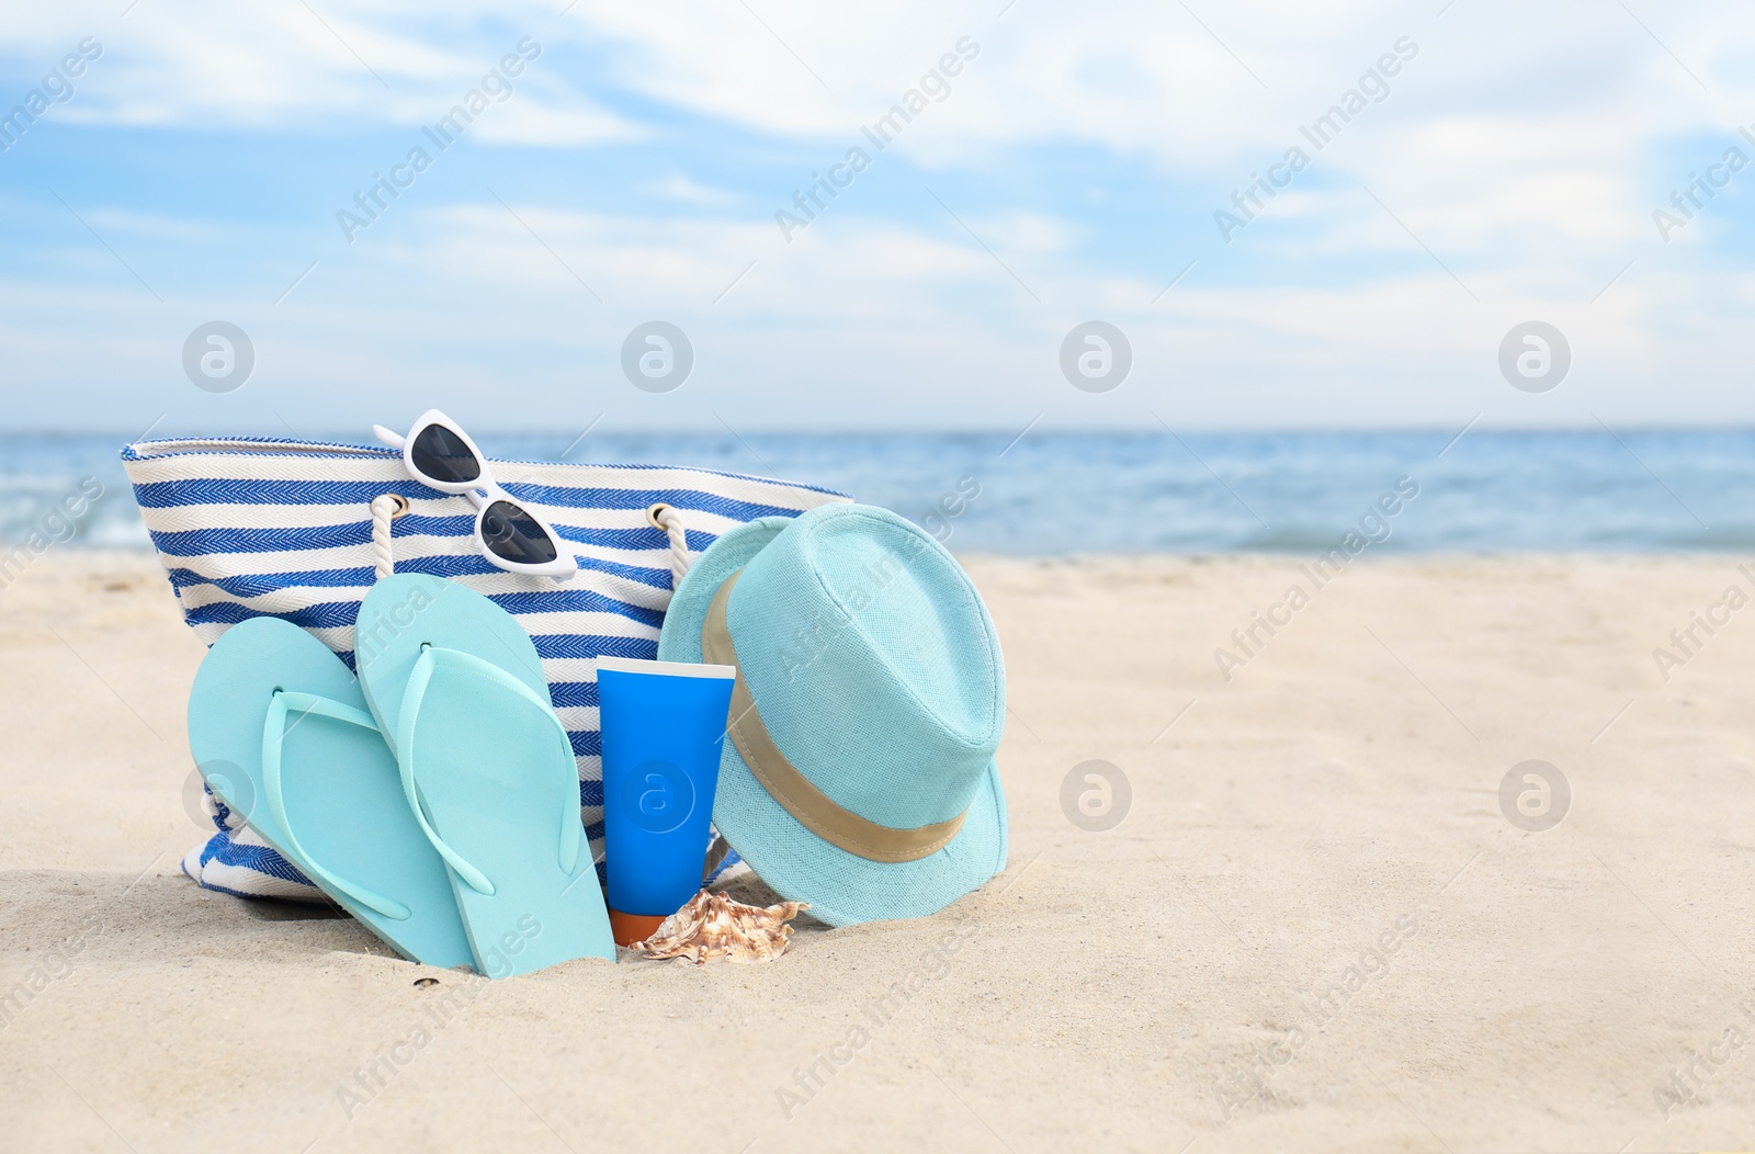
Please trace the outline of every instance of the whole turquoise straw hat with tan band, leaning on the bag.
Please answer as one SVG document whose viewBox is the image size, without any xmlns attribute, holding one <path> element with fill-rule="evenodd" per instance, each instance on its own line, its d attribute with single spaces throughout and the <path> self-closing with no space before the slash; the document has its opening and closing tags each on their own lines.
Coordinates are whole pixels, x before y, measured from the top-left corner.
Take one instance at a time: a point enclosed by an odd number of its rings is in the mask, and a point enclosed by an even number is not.
<svg viewBox="0 0 1755 1154">
<path fill-rule="evenodd" d="M 713 821 L 814 917 L 923 917 L 1006 868 L 999 635 L 914 524 L 834 503 L 728 531 L 658 658 L 737 665 Z"/>
</svg>

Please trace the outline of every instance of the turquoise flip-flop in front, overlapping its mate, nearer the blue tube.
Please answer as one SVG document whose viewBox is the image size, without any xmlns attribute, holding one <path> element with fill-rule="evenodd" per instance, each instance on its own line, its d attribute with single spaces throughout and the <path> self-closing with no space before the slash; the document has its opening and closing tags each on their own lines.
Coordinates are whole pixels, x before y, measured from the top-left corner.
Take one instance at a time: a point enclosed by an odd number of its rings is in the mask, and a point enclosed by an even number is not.
<svg viewBox="0 0 1755 1154">
<path fill-rule="evenodd" d="M 397 573 L 365 595 L 355 637 L 360 687 L 451 866 L 477 972 L 614 961 L 572 742 L 523 626 L 472 589 Z"/>
</svg>

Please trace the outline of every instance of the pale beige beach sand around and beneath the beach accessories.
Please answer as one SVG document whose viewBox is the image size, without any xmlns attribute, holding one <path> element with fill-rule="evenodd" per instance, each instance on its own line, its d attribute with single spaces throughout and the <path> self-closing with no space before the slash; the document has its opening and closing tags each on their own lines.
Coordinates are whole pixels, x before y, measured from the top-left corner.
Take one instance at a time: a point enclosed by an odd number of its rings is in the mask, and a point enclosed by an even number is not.
<svg viewBox="0 0 1755 1154">
<path fill-rule="evenodd" d="M 0 591 L 0 1147 L 1748 1149 L 1755 610 L 1653 659 L 1736 563 L 1358 561 L 1227 682 L 1293 559 L 972 558 L 1006 875 L 490 984 L 181 877 L 202 647 L 149 556 L 51 552 Z"/>
</svg>

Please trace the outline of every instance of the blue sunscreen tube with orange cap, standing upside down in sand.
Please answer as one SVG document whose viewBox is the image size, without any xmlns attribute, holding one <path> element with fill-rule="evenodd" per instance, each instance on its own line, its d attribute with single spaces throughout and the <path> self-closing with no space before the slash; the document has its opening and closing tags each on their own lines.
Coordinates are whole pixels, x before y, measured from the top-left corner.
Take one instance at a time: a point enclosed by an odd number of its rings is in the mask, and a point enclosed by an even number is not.
<svg viewBox="0 0 1755 1154">
<path fill-rule="evenodd" d="M 597 659 L 605 898 L 620 945 L 700 891 L 735 677 L 730 665 Z"/>
</svg>

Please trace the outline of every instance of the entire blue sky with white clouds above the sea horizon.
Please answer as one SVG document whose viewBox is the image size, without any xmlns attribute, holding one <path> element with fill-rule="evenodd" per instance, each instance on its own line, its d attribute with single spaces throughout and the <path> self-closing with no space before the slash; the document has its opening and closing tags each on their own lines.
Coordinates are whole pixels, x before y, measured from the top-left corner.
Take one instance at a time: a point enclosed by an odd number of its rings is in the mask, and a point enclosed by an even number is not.
<svg viewBox="0 0 1755 1154">
<path fill-rule="evenodd" d="M 0 430 L 1755 423 L 1746 4 L 563 4 L 14 5 Z"/>
</svg>

